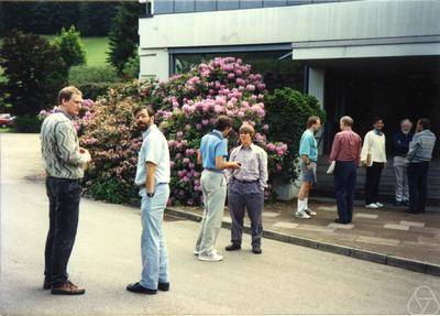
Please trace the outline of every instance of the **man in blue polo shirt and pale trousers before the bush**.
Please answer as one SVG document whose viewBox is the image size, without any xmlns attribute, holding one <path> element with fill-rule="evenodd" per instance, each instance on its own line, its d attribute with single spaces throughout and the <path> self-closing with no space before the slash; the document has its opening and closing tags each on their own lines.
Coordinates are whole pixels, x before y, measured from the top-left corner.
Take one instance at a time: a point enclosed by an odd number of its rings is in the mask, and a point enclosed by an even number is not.
<svg viewBox="0 0 440 316">
<path fill-rule="evenodd" d="M 194 253 L 201 261 L 223 260 L 223 257 L 213 249 L 220 232 L 227 198 L 227 179 L 223 170 L 240 168 L 237 162 L 224 161 L 224 157 L 228 156 L 227 137 L 231 129 L 231 118 L 218 117 L 216 129 L 201 138 L 197 155 L 197 162 L 204 166 L 200 182 L 205 211 Z"/>
</svg>

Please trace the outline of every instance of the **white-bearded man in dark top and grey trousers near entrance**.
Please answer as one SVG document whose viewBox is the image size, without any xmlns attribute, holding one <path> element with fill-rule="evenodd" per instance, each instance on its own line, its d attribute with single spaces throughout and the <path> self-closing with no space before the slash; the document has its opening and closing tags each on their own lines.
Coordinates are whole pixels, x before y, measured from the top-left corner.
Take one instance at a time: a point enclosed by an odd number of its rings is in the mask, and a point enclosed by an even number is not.
<svg viewBox="0 0 440 316">
<path fill-rule="evenodd" d="M 408 155 L 409 142 L 413 140 L 411 133 L 413 123 L 405 119 L 400 122 L 400 131 L 394 134 L 394 174 L 396 175 L 396 206 L 406 206 L 409 200 L 408 193 L 408 174 L 406 157 Z"/>
</svg>

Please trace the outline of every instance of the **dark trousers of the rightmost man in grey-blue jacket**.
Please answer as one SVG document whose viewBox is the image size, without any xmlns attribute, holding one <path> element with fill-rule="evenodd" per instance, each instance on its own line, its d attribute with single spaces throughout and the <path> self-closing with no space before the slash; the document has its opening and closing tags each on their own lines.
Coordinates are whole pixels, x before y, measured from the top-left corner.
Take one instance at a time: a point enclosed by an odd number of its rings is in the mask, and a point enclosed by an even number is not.
<svg viewBox="0 0 440 316">
<path fill-rule="evenodd" d="M 408 165 L 409 208 L 424 213 L 428 195 L 429 162 L 410 163 Z"/>
</svg>

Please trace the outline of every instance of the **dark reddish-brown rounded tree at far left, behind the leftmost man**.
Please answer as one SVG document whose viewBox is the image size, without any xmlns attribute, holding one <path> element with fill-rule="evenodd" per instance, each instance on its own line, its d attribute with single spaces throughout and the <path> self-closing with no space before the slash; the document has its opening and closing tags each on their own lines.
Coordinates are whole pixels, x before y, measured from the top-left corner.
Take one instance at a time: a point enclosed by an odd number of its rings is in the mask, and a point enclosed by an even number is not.
<svg viewBox="0 0 440 316">
<path fill-rule="evenodd" d="M 0 67 L 7 78 L 1 83 L 0 95 L 18 116 L 36 115 L 56 105 L 56 95 L 67 78 L 67 68 L 57 46 L 21 31 L 4 37 Z"/>
</svg>

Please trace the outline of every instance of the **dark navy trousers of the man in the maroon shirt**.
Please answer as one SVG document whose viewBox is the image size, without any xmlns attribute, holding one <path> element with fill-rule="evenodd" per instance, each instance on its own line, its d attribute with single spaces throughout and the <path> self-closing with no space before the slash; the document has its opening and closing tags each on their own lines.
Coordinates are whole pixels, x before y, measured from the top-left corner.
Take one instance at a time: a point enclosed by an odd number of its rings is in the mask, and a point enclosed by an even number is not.
<svg viewBox="0 0 440 316">
<path fill-rule="evenodd" d="M 334 166 L 334 189 L 337 193 L 338 216 L 342 222 L 353 218 L 353 200 L 356 187 L 356 162 L 339 162 Z"/>
</svg>

